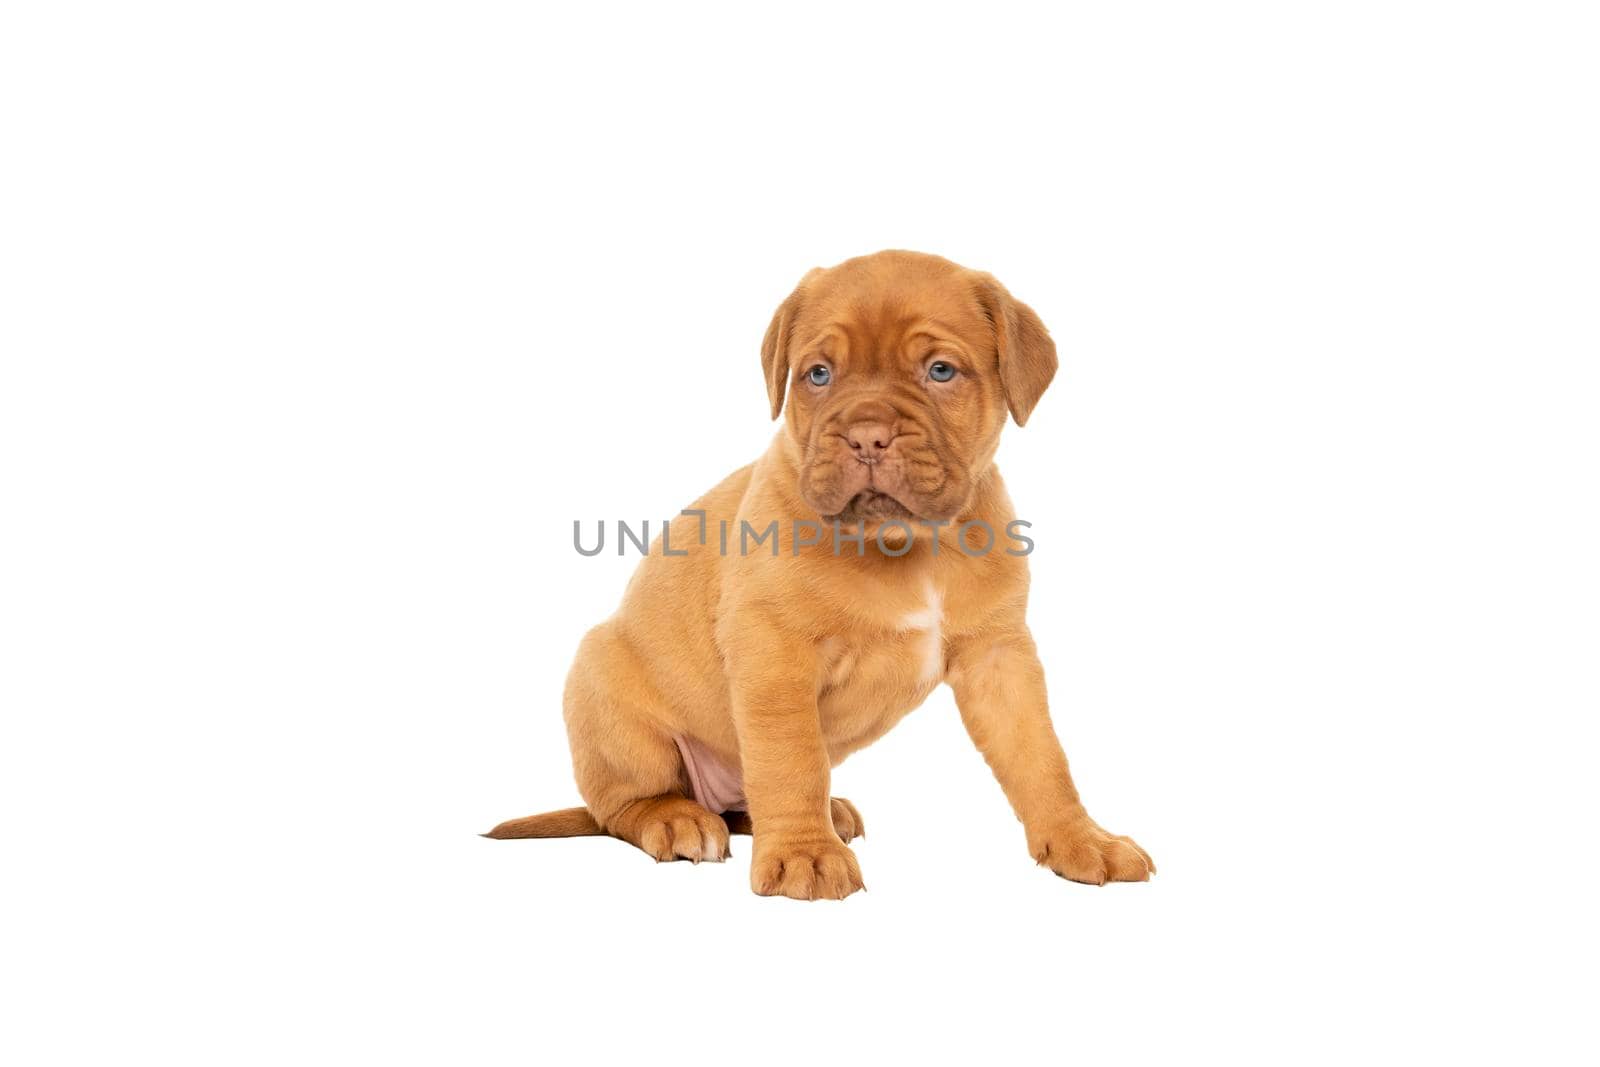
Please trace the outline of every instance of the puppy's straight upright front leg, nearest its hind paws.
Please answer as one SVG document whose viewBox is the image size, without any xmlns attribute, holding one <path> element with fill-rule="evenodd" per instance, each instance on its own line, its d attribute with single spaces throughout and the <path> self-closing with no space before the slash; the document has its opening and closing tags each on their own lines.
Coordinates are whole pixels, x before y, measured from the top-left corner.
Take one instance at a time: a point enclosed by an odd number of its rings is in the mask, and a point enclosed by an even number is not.
<svg viewBox="0 0 1600 1067">
<path fill-rule="evenodd" d="M 750 888 L 800 901 L 866 888 L 834 830 L 814 649 L 757 613 L 728 619 L 722 638 L 755 835 Z"/>
</svg>

